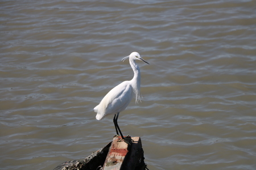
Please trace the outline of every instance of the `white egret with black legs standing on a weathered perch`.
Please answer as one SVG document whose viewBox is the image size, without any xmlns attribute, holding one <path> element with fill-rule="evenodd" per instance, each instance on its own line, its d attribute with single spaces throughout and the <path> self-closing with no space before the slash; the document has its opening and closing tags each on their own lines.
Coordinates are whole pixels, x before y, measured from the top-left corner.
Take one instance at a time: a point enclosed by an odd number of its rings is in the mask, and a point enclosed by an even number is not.
<svg viewBox="0 0 256 170">
<path fill-rule="evenodd" d="M 138 103 L 140 98 L 140 88 L 141 88 L 141 71 L 139 66 L 135 62 L 135 60 L 140 60 L 146 62 L 148 65 L 149 63 L 145 61 L 137 52 L 132 52 L 129 56 L 124 57 L 122 61 L 129 58 L 129 62 L 131 68 L 133 69 L 134 76 L 131 80 L 126 80 L 108 92 L 108 94 L 103 97 L 100 104 L 94 107 L 94 112 L 96 112 L 96 119 L 102 120 L 105 116 L 110 114 L 114 114 L 113 122 L 115 126 L 115 131 L 117 135 L 121 135 L 122 140 L 127 143 L 129 136 L 126 138 L 123 137 L 123 134 L 117 124 L 117 119 L 119 113 L 124 111 L 126 107 L 129 105 L 131 99 L 135 95 L 135 103 Z M 118 132 L 119 131 L 119 132 Z"/>
</svg>

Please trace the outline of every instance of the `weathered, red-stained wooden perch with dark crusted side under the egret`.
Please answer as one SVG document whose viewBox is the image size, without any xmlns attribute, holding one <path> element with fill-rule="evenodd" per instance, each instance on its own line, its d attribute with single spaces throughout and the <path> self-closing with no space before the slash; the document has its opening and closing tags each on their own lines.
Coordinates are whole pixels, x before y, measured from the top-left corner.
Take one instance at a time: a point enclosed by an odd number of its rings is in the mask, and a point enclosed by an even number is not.
<svg viewBox="0 0 256 170">
<path fill-rule="evenodd" d="M 94 152 L 84 160 L 71 160 L 57 166 L 54 170 L 144 170 L 144 153 L 140 137 L 133 137 L 130 144 L 114 136 L 113 141 Z"/>
</svg>

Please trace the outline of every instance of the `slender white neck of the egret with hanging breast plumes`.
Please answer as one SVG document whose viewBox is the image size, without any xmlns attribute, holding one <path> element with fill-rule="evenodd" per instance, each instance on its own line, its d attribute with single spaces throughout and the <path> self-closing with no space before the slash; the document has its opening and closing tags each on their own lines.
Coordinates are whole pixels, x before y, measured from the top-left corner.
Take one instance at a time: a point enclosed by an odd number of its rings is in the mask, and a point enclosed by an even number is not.
<svg viewBox="0 0 256 170">
<path fill-rule="evenodd" d="M 131 86 L 133 86 L 134 93 L 136 95 L 136 103 L 138 103 L 139 99 L 139 92 L 141 90 L 141 70 L 139 70 L 139 66 L 133 59 L 129 59 L 131 68 L 133 69 L 134 76 L 131 79 Z"/>
</svg>

